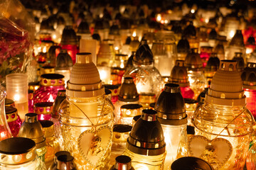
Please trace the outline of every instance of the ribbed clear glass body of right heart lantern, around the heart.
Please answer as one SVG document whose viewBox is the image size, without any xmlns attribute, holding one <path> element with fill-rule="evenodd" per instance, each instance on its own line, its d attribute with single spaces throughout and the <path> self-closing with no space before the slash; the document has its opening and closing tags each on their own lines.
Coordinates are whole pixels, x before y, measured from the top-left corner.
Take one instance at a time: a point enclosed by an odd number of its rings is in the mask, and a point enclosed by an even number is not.
<svg viewBox="0 0 256 170">
<path fill-rule="evenodd" d="M 235 116 L 238 118 L 233 120 Z M 230 123 L 232 120 L 233 122 Z M 219 168 L 220 170 L 243 169 L 250 145 L 252 122 L 252 114 L 245 106 L 218 106 L 209 103 L 197 108 L 193 118 L 196 135 L 202 135 L 208 140 L 220 137 L 231 143 L 233 152 L 230 159 Z M 228 130 L 223 130 L 228 123 L 230 123 Z"/>
</svg>

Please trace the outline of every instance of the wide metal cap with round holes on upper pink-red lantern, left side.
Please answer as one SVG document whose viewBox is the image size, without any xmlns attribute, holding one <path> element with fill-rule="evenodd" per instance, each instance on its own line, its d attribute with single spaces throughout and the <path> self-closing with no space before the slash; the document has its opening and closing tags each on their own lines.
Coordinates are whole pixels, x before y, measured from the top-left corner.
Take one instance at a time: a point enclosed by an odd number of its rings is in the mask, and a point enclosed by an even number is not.
<svg viewBox="0 0 256 170">
<path fill-rule="evenodd" d="M 64 76 L 61 74 L 42 74 L 40 84 L 41 86 L 64 86 Z"/>
</svg>

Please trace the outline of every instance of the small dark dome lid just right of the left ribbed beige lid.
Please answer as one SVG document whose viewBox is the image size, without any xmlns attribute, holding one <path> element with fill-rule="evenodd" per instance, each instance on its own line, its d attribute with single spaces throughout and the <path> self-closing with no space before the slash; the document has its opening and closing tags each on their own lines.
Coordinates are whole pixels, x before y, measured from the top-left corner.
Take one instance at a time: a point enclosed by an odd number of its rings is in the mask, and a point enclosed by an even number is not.
<svg viewBox="0 0 256 170">
<path fill-rule="evenodd" d="M 139 94 L 132 77 L 124 77 L 124 83 L 121 85 L 118 100 L 126 102 L 139 101 Z"/>
</svg>

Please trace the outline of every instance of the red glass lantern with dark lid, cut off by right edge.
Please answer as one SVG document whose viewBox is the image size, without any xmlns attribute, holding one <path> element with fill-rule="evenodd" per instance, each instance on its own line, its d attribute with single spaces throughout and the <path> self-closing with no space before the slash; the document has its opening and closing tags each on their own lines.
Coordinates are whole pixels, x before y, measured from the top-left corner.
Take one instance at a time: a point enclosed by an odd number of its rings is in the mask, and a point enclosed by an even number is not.
<svg viewBox="0 0 256 170">
<path fill-rule="evenodd" d="M 242 85 L 245 91 L 247 108 L 256 118 L 256 64 L 249 62 L 242 72 Z"/>
</svg>

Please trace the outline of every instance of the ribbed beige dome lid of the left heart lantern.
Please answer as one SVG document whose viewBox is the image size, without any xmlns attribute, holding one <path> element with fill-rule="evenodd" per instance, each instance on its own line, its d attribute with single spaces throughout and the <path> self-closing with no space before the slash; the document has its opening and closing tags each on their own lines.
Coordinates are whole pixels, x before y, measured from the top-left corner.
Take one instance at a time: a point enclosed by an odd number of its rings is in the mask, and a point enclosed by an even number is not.
<svg viewBox="0 0 256 170">
<path fill-rule="evenodd" d="M 70 72 L 66 95 L 78 98 L 102 96 L 105 94 L 100 74 L 92 62 L 92 54 L 78 53 Z"/>
</svg>

